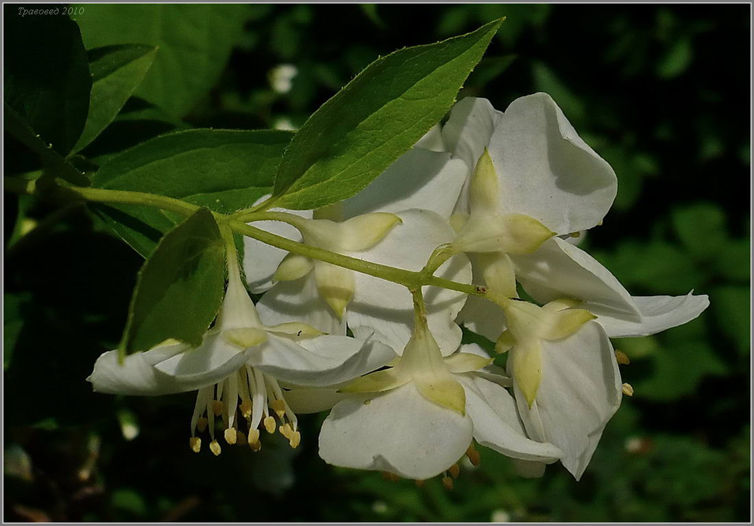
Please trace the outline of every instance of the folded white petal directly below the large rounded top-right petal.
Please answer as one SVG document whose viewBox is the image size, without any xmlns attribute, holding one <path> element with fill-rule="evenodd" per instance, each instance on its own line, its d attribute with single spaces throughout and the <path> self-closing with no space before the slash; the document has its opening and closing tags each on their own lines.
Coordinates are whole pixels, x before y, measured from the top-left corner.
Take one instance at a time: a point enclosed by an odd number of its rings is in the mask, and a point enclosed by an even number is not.
<svg viewBox="0 0 754 526">
<path fill-rule="evenodd" d="M 574 298 L 584 309 L 599 309 L 639 321 L 639 309 L 628 291 L 608 269 L 581 248 L 552 238 L 532 254 L 510 256 L 516 279 L 539 303 Z"/>
</svg>

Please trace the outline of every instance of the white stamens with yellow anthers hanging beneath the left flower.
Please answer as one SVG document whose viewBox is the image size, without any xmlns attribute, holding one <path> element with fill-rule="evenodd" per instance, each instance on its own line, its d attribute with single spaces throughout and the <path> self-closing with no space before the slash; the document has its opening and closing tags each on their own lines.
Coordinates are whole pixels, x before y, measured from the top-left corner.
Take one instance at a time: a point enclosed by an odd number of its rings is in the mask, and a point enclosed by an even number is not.
<svg viewBox="0 0 754 526">
<path fill-rule="evenodd" d="M 195 453 L 201 450 L 201 438 L 197 432 L 208 429 L 210 451 L 220 454 L 222 448 L 215 438 L 216 417 L 222 419 L 223 435 L 228 444 L 246 443 L 253 451 L 259 451 L 262 448 L 260 428 L 268 433 L 277 429 L 288 439 L 291 448 L 298 447 L 301 442 L 298 419 L 286 403 L 277 380 L 249 365 L 244 365 L 222 382 L 199 389 L 189 438 L 189 447 Z M 242 421 L 246 422 L 245 426 L 241 425 Z M 243 429 L 246 429 L 245 433 Z"/>
</svg>

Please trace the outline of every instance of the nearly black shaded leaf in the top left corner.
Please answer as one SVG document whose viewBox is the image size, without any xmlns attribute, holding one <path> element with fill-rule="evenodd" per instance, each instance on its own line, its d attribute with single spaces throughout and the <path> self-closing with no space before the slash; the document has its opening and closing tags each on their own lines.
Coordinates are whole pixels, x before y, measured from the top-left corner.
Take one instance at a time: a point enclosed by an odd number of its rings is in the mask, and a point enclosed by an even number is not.
<svg viewBox="0 0 754 526">
<path fill-rule="evenodd" d="M 60 4 L 34 5 L 57 14 L 3 8 L 5 102 L 44 147 L 65 156 L 84 129 L 92 85 L 78 26 L 60 15 Z"/>
</svg>

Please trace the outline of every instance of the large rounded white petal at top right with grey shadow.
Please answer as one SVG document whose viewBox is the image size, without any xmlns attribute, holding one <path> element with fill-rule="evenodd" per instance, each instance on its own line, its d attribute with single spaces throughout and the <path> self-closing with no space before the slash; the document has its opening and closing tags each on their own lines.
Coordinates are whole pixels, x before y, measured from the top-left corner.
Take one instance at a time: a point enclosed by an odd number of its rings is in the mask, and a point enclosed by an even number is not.
<svg viewBox="0 0 754 526">
<path fill-rule="evenodd" d="M 595 226 L 618 180 L 544 93 L 510 103 L 489 140 L 501 178 L 501 210 L 534 217 L 567 234 Z"/>
</svg>

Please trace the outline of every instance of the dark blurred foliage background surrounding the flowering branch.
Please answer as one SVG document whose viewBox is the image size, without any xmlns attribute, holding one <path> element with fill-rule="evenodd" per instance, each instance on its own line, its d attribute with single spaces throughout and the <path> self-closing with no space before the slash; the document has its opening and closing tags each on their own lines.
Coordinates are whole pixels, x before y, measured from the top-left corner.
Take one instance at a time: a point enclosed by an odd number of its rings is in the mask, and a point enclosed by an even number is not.
<svg viewBox="0 0 754 526">
<path fill-rule="evenodd" d="M 161 46 L 84 155 L 177 128 L 291 128 L 379 55 L 507 20 L 459 98 L 547 91 L 618 174 L 584 248 L 633 294 L 710 295 L 696 321 L 616 340 L 635 389 L 580 482 L 482 450 L 455 488 L 386 481 L 302 444 L 187 447 L 194 395 L 93 394 L 142 260 L 81 207 L 5 195 L 6 520 L 748 521 L 748 5 L 81 5 L 87 48 Z M 5 139 L 8 146 L 8 139 Z M 29 157 L 5 150 L 5 174 Z M 33 158 L 32 158 L 33 161 Z"/>
</svg>

